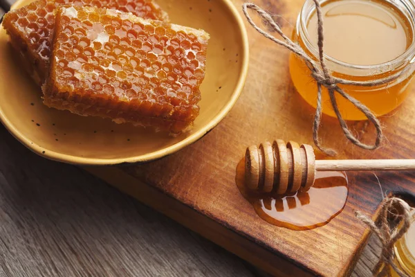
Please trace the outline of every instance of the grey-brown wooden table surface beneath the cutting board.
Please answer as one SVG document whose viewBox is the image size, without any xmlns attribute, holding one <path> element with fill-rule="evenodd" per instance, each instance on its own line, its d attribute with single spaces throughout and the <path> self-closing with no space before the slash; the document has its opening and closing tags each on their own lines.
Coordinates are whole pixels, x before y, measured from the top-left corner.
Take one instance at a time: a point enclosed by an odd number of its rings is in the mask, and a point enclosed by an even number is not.
<svg viewBox="0 0 415 277">
<path fill-rule="evenodd" d="M 0 276 L 266 276 L 1 125 L 0 221 Z M 353 277 L 371 276 L 379 249 L 371 238 Z"/>
</svg>

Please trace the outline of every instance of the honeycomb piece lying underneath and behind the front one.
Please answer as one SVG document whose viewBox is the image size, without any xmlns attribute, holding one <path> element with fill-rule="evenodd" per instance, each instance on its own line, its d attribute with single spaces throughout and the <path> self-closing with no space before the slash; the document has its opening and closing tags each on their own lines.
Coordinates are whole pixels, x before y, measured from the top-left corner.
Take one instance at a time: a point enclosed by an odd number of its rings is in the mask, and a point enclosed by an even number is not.
<svg viewBox="0 0 415 277">
<path fill-rule="evenodd" d="M 168 21 L 167 14 L 152 0 L 38 0 L 12 10 L 3 18 L 3 27 L 10 35 L 25 69 L 42 84 L 46 77 L 50 45 L 55 24 L 54 10 L 59 5 L 97 6 L 132 12 L 138 17 Z"/>
</svg>

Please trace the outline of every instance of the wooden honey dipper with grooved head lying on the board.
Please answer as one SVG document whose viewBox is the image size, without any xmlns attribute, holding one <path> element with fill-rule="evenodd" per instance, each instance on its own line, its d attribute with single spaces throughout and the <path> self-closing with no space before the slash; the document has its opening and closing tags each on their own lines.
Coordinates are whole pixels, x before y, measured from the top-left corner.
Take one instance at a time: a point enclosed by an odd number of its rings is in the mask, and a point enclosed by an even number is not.
<svg viewBox="0 0 415 277">
<path fill-rule="evenodd" d="M 309 190 L 316 171 L 415 170 L 415 159 L 315 160 L 311 145 L 277 139 L 246 149 L 245 180 L 261 193 L 296 193 Z"/>
</svg>

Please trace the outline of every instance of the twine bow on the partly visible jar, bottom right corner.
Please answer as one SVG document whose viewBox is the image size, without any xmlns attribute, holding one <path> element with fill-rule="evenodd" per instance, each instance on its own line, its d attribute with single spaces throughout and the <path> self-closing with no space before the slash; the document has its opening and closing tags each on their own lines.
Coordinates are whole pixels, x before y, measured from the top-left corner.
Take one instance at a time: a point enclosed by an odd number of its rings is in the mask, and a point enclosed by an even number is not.
<svg viewBox="0 0 415 277">
<path fill-rule="evenodd" d="M 399 210 L 397 209 L 399 208 Z M 399 214 L 392 213 L 392 211 L 399 211 Z M 395 226 L 391 227 L 388 220 L 388 214 L 391 213 L 396 218 L 400 218 L 402 221 L 402 226 L 398 228 Z M 400 277 L 409 277 L 403 271 L 401 271 L 395 264 L 395 251 L 394 244 L 408 231 L 409 226 L 411 225 L 411 207 L 403 199 L 397 197 L 386 197 L 380 204 L 379 212 L 379 225 L 376 226 L 375 222 L 371 220 L 366 215 L 363 215 L 360 211 L 356 211 L 356 217 L 365 223 L 372 232 L 378 236 L 380 242 L 382 243 L 382 253 L 376 264 L 373 274 L 377 276 L 380 273 L 380 270 L 385 266 L 387 267 L 387 274 L 391 276 L 391 268 L 396 271 Z"/>
</svg>

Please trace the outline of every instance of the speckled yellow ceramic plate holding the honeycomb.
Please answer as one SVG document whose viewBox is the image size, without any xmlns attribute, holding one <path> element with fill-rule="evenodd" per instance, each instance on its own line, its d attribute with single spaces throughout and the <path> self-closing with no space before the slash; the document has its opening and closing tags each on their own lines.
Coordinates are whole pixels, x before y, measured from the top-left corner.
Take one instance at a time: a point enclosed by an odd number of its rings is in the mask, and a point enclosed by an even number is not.
<svg viewBox="0 0 415 277">
<path fill-rule="evenodd" d="M 17 1 L 12 8 L 29 3 Z M 0 28 L 0 118 L 10 133 L 48 159 L 80 165 L 151 161 L 200 139 L 228 114 L 237 101 L 248 70 L 248 38 L 230 0 L 158 0 L 175 24 L 210 33 L 200 115 L 194 128 L 176 138 L 150 129 L 118 125 L 42 104 L 42 93 L 12 55 Z"/>
</svg>

